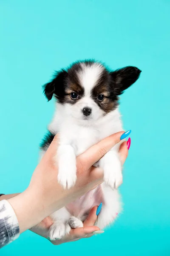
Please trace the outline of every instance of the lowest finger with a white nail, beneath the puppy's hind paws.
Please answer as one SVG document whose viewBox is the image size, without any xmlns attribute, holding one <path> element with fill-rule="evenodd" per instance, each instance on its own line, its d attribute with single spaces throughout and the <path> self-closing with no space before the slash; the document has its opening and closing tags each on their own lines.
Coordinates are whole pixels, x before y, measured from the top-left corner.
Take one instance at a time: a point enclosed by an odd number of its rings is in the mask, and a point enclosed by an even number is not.
<svg viewBox="0 0 170 256">
<path fill-rule="evenodd" d="M 81 238 L 86 235 L 93 234 L 94 231 L 100 230 L 99 227 L 91 226 L 91 227 L 78 227 L 75 229 L 71 229 L 70 235 L 74 238 Z"/>
</svg>

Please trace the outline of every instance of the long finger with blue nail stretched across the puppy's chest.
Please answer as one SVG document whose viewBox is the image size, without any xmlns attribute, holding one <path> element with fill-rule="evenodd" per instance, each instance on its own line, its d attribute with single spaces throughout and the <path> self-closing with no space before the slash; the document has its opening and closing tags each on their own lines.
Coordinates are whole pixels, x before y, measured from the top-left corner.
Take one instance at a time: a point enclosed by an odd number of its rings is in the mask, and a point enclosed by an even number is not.
<svg viewBox="0 0 170 256">
<path fill-rule="evenodd" d="M 101 140 L 99 143 L 93 145 L 84 153 L 77 157 L 77 160 L 82 162 L 86 168 L 90 168 L 94 163 L 100 160 L 111 148 L 120 142 L 120 137 L 124 131 L 119 131 L 111 136 Z"/>
</svg>

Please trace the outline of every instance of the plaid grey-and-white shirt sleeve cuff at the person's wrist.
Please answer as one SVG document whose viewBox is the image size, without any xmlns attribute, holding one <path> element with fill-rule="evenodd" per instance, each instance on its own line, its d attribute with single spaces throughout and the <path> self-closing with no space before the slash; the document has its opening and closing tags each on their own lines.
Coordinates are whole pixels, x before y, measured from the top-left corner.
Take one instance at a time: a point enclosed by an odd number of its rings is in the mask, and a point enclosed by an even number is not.
<svg viewBox="0 0 170 256">
<path fill-rule="evenodd" d="M 11 243 L 20 235 L 17 216 L 11 204 L 0 201 L 0 248 Z"/>
</svg>

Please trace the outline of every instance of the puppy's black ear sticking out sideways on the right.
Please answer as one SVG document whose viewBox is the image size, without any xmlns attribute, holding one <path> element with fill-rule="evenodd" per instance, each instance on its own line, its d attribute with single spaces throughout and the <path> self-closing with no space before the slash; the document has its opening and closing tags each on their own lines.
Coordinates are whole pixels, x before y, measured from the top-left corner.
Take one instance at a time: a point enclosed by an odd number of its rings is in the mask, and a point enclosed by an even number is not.
<svg viewBox="0 0 170 256">
<path fill-rule="evenodd" d="M 137 67 L 130 66 L 111 72 L 116 95 L 122 94 L 124 90 L 134 84 L 141 72 Z"/>
</svg>

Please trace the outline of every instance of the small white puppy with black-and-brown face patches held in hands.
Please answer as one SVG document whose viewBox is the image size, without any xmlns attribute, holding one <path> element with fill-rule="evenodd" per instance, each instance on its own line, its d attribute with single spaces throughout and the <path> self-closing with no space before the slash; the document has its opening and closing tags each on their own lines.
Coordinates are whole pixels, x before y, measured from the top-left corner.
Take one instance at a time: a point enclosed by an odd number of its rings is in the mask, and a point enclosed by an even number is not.
<svg viewBox="0 0 170 256">
<path fill-rule="evenodd" d="M 56 72 L 54 79 L 44 85 L 48 101 L 53 96 L 56 99 L 56 110 L 41 144 L 41 154 L 59 132 L 56 163 L 58 182 L 65 189 L 76 182 L 76 157 L 105 137 L 122 131 L 119 95 L 139 78 L 140 73 L 136 67 L 112 71 L 93 60 L 78 61 Z M 119 146 L 114 146 L 97 163 L 104 171 L 104 183 L 51 215 L 54 221 L 48 234 L 51 240 L 61 239 L 71 228 L 83 227 L 89 210 L 101 202 L 102 210 L 95 225 L 103 229 L 116 218 L 121 211 L 117 190 L 122 183 Z"/>
</svg>

